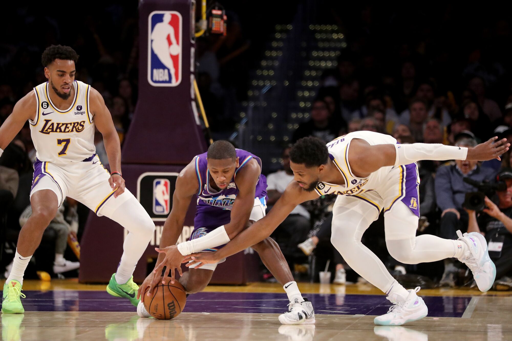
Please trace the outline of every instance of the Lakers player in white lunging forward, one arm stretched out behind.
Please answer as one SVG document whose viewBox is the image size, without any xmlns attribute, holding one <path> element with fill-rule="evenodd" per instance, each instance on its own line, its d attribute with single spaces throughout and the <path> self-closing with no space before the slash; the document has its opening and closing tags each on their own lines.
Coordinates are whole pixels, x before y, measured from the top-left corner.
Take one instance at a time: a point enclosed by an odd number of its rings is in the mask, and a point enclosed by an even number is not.
<svg viewBox="0 0 512 341">
<path fill-rule="evenodd" d="M 384 210 L 386 243 L 397 261 L 407 264 L 456 257 L 472 271 L 481 291 L 494 283 L 496 267 L 480 233 L 458 231 L 458 240 L 416 237 L 419 216 L 420 160 L 490 160 L 508 150 L 506 139 L 494 137 L 474 148 L 442 144 L 397 144 L 388 135 L 354 132 L 329 142 L 303 138 L 290 151 L 294 181 L 267 217 L 254 223 L 222 249 L 191 256 L 202 265 L 227 257 L 264 238 L 298 204 L 320 195 L 338 195 L 333 208 L 331 242 L 343 259 L 368 282 L 386 292 L 393 306 L 374 319 L 377 325 L 402 325 L 427 315 L 425 303 L 396 282 L 382 262 L 361 243 L 362 234 Z"/>
</svg>

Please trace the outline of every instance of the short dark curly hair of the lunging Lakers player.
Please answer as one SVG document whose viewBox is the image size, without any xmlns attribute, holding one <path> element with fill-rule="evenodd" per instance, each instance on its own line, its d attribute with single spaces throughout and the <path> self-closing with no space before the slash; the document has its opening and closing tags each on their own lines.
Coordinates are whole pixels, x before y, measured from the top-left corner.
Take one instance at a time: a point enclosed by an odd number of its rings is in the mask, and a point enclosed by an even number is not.
<svg viewBox="0 0 512 341">
<path fill-rule="evenodd" d="M 329 160 L 329 151 L 324 141 L 317 137 L 299 139 L 290 151 L 290 161 L 306 167 L 318 167 Z"/>
</svg>

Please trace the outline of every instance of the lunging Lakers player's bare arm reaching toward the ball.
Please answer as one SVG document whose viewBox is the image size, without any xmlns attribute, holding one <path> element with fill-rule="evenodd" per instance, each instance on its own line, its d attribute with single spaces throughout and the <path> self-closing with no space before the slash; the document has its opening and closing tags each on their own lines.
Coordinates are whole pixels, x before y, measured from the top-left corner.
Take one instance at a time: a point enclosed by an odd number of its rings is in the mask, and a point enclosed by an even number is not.
<svg viewBox="0 0 512 341">
<path fill-rule="evenodd" d="M 305 191 L 296 181 L 290 182 L 281 198 L 275 203 L 267 216 L 245 229 L 220 250 L 191 254 L 190 259 L 196 262 L 187 264 L 187 266 L 196 263 L 216 263 L 223 258 L 261 242 L 271 235 L 297 205 L 316 198 L 318 198 L 318 195 L 314 191 Z M 185 261 L 187 260 L 185 259 Z"/>
</svg>

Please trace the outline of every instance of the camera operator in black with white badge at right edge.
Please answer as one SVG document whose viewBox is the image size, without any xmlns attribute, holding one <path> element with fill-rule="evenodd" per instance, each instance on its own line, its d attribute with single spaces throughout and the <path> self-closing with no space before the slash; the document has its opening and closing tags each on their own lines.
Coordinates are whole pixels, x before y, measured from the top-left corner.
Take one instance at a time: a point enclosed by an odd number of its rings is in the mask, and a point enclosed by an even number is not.
<svg viewBox="0 0 512 341">
<path fill-rule="evenodd" d="M 488 243 L 489 256 L 496 265 L 495 290 L 512 288 L 512 169 L 504 168 L 496 177 L 498 204 L 485 197 L 485 207 L 477 220 L 475 210 L 466 209 L 469 215 L 468 232 L 479 232 Z M 480 223 L 479 223 L 480 222 Z M 483 231 L 480 230 L 483 226 Z"/>
</svg>

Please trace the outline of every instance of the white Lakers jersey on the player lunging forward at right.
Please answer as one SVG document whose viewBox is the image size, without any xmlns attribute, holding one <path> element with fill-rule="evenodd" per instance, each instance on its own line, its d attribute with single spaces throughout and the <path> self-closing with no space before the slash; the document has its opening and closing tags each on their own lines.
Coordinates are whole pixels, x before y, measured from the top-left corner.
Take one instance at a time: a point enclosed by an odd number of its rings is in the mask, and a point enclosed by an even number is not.
<svg viewBox="0 0 512 341">
<path fill-rule="evenodd" d="M 332 140 L 327 144 L 329 158 L 342 174 L 345 185 L 321 182 L 315 188 L 318 195 L 356 195 L 364 193 L 365 191 L 375 190 L 380 184 L 385 183 L 386 177 L 391 171 L 391 168 L 393 168 L 392 166 L 382 167 L 367 178 L 358 178 L 352 173 L 348 161 L 348 154 L 350 142 L 353 139 L 365 140 L 370 145 L 396 144 L 396 139 L 392 136 L 367 131 L 349 133 Z"/>
</svg>

